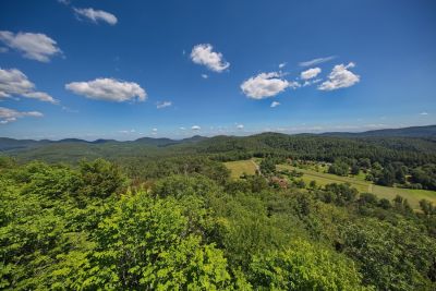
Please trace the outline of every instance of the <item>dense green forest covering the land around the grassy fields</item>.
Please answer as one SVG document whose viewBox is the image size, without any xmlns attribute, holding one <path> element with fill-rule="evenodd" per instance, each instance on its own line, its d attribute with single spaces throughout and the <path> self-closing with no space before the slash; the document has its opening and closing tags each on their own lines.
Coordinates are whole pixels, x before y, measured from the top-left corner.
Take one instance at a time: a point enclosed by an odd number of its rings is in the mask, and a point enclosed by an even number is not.
<svg viewBox="0 0 436 291">
<path fill-rule="evenodd" d="M 25 143 L 2 144 L 0 289 L 436 289 L 432 202 L 276 167 L 435 190 L 432 136 Z M 231 179 L 222 161 L 247 158 L 256 173 Z"/>
</svg>

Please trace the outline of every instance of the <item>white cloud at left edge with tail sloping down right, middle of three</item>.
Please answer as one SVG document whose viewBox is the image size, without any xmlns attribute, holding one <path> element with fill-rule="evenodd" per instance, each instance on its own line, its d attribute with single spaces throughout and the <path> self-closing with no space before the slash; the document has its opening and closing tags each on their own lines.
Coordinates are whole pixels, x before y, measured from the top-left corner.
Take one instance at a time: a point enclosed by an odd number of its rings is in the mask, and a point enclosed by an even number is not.
<svg viewBox="0 0 436 291">
<path fill-rule="evenodd" d="M 59 102 L 47 93 L 36 92 L 35 84 L 28 81 L 22 71 L 17 69 L 0 69 L 0 98 L 12 96 L 23 96 L 51 104 Z"/>
</svg>

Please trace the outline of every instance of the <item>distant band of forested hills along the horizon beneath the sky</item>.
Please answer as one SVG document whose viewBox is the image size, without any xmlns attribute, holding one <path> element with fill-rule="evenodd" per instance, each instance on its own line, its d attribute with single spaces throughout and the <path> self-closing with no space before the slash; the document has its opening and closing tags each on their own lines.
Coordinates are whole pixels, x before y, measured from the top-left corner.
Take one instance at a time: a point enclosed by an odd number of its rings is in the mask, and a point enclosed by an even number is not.
<svg viewBox="0 0 436 291">
<path fill-rule="evenodd" d="M 420 130 L 421 129 L 421 130 Z M 107 158 L 110 160 L 141 159 L 158 156 L 201 155 L 215 160 L 238 160 L 251 157 L 279 156 L 287 158 L 335 161 L 340 157 L 370 158 L 382 165 L 399 161 L 408 166 L 436 162 L 436 126 L 384 130 L 387 136 L 328 136 L 323 134 L 288 135 L 262 133 L 251 136 L 193 136 L 185 140 L 143 137 L 118 142 L 97 140 L 87 142 L 68 138 L 61 141 L 32 141 L 0 138 L 1 154 L 28 161 L 40 159 L 50 162 L 76 162 L 80 159 Z M 393 132 L 407 134 L 391 136 Z M 417 135 L 421 132 L 422 136 Z"/>
</svg>

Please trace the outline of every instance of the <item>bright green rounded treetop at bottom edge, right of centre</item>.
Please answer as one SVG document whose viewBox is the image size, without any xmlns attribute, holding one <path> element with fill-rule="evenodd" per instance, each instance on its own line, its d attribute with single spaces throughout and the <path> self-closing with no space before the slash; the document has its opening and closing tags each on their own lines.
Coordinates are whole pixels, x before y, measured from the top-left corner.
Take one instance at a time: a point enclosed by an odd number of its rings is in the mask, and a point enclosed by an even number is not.
<svg viewBox="0 0 436 291">
<path fill-rule="evenodd" d="M 350 259 L 301 240 L 255 256 L 250 267 L 261 290 L 370 290 Z"/>
</svg>

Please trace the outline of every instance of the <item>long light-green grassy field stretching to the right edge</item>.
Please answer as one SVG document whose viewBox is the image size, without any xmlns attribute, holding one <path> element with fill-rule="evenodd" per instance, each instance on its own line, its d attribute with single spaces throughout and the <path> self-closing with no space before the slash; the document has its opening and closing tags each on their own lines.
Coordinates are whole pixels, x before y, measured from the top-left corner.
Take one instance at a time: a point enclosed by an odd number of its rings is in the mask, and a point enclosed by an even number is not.
<svg viewBox="0 0 436 291">
<path fill-rule="evenodd" d="M 420 208 L 420 201 L 427 199 L 436 203 L 436 192 L 427 190 L 411 190 L 411 189 L 400 189 L 400 187 L 387 187 L 374 185 L 367 181 L 363 181 L 359 178 L 351 177 L 339 177 L 336 174 L 329 174 L 324 172 L 316 172 L 308 169 L 294 168 L 288 165 L 278 165 L 278 170 L 298 170 L 303 173 L 303 181 L 310 183 L 311 181 L 316 181 L 318 185 L 326 185 L 330 183 L 350 183 L 353 187 L 358 189 L 359 192 L 367 192 L 377 195 L 380 198 L 387 198 L 389 201 L 393 199 L 396 195 L 401 195 L 409 201 L 414 209 Z"/>
</svg>

